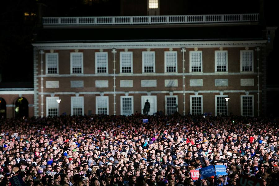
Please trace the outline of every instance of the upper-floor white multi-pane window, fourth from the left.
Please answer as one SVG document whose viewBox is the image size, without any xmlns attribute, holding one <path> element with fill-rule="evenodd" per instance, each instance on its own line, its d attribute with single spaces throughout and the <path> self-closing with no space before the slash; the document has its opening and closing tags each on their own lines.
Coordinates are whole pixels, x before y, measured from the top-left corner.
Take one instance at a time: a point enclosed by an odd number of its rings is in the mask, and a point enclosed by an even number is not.
<svg viewBox="0 0 279 186">
<path fill-rule="evenodd" d="M 133 52 L 120 52 L 120 72 L 133 72 Z"/>
</svg>

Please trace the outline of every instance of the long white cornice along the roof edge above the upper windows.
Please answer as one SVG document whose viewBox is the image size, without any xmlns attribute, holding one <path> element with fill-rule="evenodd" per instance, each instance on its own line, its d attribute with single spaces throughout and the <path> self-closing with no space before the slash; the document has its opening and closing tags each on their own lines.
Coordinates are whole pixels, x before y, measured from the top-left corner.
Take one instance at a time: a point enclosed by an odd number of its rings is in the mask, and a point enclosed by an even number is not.
<svg viewBox="0 0 279 186">
<path fill-rule="evenodd" d="M 189 42 L 96 42 L 96 43 L 33 43 L 39 50 L 67 49 L 137 49 L 137 48 L 212 48 L 212 47 L 259 47 L 266 40 L 254 41 L 189 41 Z"/>
</svg>

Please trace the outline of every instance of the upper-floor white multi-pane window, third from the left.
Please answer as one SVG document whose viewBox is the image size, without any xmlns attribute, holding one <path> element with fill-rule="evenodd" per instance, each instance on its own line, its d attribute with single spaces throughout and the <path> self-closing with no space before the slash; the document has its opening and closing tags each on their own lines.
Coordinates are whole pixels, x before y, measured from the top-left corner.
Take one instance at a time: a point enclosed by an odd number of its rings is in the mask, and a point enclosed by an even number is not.
<svg viewBox="0 0 279 186">
<path fill-rule="evenodd" d="M 108 52 L 95 52 L 95 73 L 108 73 Z"/>
</svg>

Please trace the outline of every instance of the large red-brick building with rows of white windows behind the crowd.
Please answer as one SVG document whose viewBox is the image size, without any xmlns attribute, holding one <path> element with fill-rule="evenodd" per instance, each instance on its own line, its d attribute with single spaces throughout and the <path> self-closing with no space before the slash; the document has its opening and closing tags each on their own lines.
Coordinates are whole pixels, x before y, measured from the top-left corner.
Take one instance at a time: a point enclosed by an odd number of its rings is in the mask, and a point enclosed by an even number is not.
<svg viewBox="0 0 279 186">
<path fill-rule="evenodd" d="M 264 113 L 259 14 L 148 14 L 43 18 L 29 116 Z"/>
</svg>

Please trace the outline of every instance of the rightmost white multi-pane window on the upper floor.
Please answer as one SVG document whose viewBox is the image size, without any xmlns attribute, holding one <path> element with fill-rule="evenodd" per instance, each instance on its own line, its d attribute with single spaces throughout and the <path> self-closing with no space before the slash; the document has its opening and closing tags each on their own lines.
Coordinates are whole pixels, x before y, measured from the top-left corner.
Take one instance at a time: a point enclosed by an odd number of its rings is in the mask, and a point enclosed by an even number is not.
<svg viewBox="0 0 279 186">
<path fill-rule="evenodd" d="M 254 70 L 254 52 L 252 50 L 240 51 L 240 71 L 250 72 Z"/>
</svg>

